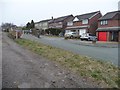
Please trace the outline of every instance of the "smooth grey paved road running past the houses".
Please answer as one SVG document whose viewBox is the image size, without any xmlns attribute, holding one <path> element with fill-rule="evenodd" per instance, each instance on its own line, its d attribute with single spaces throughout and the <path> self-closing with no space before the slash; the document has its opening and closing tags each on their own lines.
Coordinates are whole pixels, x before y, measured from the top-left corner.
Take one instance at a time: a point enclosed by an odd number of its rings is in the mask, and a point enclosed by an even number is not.
<svg viewBox="0 0 120 90">
<path fill-rule="evenodd" d="M 106 48 L 106 47 L 91 47 L 84 46 L 75 43 L 75 41 L 64 40 L 64 38 L 34 37 L 32 35 L 23 35 L 23 38 L 41 42 L 47 45 L 51 45 L 57 48 L 65 49 L 80 55 L 90 56 L 95 59 L 108 61 L 118 66 L 118 48 Z"/>
</svg>

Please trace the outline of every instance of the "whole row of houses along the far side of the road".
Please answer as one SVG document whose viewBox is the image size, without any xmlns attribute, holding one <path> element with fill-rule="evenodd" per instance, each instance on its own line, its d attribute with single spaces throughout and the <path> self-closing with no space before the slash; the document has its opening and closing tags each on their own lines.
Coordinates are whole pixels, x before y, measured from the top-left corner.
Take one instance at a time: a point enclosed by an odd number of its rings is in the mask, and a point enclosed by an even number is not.
<svg viewBox="0 0 120 90">
<path fill-rule="evenodd" d="M 108 12 L 102 16 L 100 11 L 81 14 L 77 16 L 67 15 L 63 17 L 42 20 L 35 23 L 39 30 L 59 28 L 65 32 L 92 33 L 98 37 L 98 41 L 120 41 L 120 10 Z"/>
</svg>

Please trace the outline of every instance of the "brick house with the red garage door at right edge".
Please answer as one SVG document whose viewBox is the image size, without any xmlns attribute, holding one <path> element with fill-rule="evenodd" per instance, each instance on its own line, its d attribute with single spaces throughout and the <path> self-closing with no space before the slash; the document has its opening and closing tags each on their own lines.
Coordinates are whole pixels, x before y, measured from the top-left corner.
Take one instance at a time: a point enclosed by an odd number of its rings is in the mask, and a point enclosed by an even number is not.
<svg viewBox="0 0 120 90">
<path fill-rule="evenodd" d="M 99 41 L 120 41 L 120 11 L 106 13 L 98 21 Z"/>
</svg>

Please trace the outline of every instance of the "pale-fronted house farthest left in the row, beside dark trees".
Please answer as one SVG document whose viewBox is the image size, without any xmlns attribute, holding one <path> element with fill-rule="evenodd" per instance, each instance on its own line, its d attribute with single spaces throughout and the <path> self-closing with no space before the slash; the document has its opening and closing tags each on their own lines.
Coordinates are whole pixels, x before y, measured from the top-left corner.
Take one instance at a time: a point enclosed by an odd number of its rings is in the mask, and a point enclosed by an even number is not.
<svg viewBox="0 0 120 90">
<path fill-rule="evenodd" d="M 50 20 L 51 19 L 35 22 L 35 28 L 38 29 L 38 30 L 44 30 L 45 31 L 46 29 L 48 29 L 48 22 Z"/>
</svg>

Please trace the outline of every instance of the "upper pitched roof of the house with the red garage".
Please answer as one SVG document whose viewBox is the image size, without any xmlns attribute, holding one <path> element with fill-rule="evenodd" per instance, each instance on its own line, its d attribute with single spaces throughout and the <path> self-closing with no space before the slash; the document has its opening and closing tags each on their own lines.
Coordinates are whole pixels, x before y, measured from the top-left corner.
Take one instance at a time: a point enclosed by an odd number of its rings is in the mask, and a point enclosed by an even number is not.
<svg viewBox="0 0 120 90">
<path fill-rule="evenodd" d="M 106 13 L 103 17 L 101 17 L 99 20 L 108 20 L 112 19 L 115 15 L 119 14 L 120 15 L 120 10 L 119 11 L 113 11 L 113 12 L 108 12 Z"/>
</svg>

